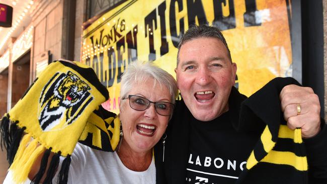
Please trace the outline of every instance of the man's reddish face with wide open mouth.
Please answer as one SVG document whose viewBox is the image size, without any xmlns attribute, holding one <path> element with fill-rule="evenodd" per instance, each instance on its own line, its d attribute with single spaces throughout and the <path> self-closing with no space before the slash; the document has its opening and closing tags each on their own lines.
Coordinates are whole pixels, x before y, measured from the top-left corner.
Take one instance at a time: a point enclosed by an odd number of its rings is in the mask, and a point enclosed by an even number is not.
<svg viewBox="0 0 327 184">
<path fill-rule="evenodd" d="M 196 38 L 182 45 L 178 57 L 177 85 L 192 115 L 210 121 L 228 111 L 237 67 L 224 44 L 215 38 Z"/>
</svg>

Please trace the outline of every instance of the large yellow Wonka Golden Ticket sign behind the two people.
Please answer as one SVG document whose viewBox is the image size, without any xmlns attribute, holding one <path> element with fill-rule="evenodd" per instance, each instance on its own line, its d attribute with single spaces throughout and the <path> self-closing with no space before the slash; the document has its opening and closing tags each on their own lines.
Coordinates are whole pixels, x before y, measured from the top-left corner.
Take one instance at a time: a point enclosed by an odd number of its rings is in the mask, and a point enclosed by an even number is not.
<svg viewBox="0 0 327 184">
<path fill-rule="evenodd" d="M 181 35 L 194 23 L 213 25 L 222 30 L 237 63 L 236 86 L 250 96 L 272 78 L 292 75 L 286 2 L 126 1 L 85 23 L 89 25 L 83 32 L 82 61 L 94 68 L 109 90 L 104 108 L 118 113 L 120 75 L 130 62 L 153 60 L 175 76 Z"/>
</svg>

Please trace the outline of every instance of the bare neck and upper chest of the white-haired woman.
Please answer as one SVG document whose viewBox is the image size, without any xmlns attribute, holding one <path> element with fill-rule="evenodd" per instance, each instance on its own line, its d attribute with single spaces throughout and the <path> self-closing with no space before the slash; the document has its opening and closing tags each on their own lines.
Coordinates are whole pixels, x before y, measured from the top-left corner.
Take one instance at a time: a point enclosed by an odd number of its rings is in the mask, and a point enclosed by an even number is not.
<svg viewBox="0 0 327 184">
<path fill-rule="evenodd" d="M 146 152 L 135 152 L 130 146 L 124 141 L 121 140 L 122 143 L 120 145 L 119 151 L 116 150 L 120 160 L 123 164 L 133 170 L 133 171 L 144 171 L 146 170 L 152 161 L 152 150 L 148 150 Z"/>
</svg>

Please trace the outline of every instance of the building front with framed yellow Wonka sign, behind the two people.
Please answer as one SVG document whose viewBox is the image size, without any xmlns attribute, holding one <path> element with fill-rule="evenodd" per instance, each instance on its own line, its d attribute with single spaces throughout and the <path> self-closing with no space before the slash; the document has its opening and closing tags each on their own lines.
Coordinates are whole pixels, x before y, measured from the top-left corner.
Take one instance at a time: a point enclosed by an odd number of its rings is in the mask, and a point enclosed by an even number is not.
<svg viewBox="0 0 327 184">
<path fill-rule="evenodd" d="M 313 87 L 324 116 L 326 1 L 150 2 L 34 1 L 30 24 L 0 53 L 0 112 L 11 109 L 43 68 L 60 58 L 92 66 L 112 97 L 104 106 L 117 112 L 119 76 L 129 62 L 153 60 L 175 75 L 180 36 L 192 24 L 210 24 L 226 37 L 241 93 L 250 96 L 276 76 L 292 76 Z"/>
</svg>

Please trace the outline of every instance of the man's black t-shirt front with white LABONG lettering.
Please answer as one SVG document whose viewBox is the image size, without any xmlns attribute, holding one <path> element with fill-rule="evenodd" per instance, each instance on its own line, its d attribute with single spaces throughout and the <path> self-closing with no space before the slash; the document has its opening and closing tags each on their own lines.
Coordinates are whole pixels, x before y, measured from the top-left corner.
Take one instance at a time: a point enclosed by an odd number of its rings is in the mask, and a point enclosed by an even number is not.
<svg viewBox="0 0 327 184">
<path fill-rule="evenodd" d="M 186 183 L 235 183 L 259 133 L 236 132 L 229 112 L 209 122 L 190 121 Z"/>
</svg>

